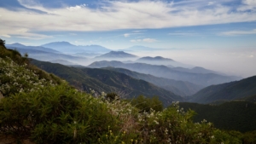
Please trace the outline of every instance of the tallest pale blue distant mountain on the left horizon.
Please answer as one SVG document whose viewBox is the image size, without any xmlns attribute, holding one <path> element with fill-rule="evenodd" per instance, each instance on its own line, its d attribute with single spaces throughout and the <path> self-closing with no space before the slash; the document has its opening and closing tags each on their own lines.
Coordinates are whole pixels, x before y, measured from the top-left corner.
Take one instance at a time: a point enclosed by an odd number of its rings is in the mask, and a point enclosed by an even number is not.
<svg viewBox="0 0 256 144">
<path fill-rule="evenodd" d="M 104 48 L 100 45 L 73 45 L 71 43 L 68 42 L 53 42 L 53 43 L 46 43 L 44 45 L 42 45 L 46 48 L 51 48 L 51 49 L 56 49 L 59 50 L 63 53 L 92 53 L 92 52 L 96 52 L 96 53 L 106 53 L 109 52 L 110 49 Z"/>
</svg>

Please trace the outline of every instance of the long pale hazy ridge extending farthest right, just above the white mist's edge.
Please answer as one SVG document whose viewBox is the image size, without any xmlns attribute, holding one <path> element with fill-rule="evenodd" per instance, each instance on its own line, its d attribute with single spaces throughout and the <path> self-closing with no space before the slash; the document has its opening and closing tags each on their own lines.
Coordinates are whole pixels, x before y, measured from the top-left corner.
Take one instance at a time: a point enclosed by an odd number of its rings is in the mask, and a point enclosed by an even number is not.
<svg viewBox="0 0 256 144">
<path fill-rule="evenodd" d="M 118 67 L 125 68 L 134 72 L 140 72 L 144 74 L 151 74 L 155 77 L 160 78 L 169 78 L 174 80 L 188 81 L 193 84 L 201 85 L 202 87 L 207 87 L 212 84 L 223 84 L 230 81 L 235 81 L 239 78 L 222 76 L 214 73 L 192 73 L 192 72 L 179 72 L 177 70 L 173 70 L 167 66 L 156 66 L 156 65 L 148 65 L 143 63 L 122 63 L 120 61 L 96 61 L 90 64 L 89 67 L 93 68 L 102 68 L 102 67 Z"/>
</svg>

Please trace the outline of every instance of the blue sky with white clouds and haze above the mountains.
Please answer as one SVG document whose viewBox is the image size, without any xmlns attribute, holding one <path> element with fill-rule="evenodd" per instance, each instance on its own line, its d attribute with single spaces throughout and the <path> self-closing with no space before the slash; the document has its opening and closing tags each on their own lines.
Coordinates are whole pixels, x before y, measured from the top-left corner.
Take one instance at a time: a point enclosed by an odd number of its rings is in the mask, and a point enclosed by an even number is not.
<svg viewBox="0 0 256 144">
<path fill-rule="evenodd" d="M 256 0 L 0 0 L 0 38 L 169 49 L 137 55 L 245 78 L 256 75 Z"/>
</svg>

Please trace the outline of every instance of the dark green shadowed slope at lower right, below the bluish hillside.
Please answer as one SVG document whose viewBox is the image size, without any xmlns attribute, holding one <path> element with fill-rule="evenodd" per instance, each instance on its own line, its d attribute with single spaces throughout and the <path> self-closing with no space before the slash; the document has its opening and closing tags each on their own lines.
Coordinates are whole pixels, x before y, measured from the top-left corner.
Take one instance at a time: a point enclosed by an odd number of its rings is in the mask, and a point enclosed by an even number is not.
<svg viewBox="0 0 256 144">
<path fill-rule="evenodd" d="M 256 103 L 253 102 L 232 101 L 218 106 L 181 102 L 179 106 L 183 107 L 185 111 L 190 108 L 197 113 L 194 116 L 195 123 L 207 119 L 216 128 L 222 130 L 239 130 L 241 132 L 256 130 Z"/>
</svg>

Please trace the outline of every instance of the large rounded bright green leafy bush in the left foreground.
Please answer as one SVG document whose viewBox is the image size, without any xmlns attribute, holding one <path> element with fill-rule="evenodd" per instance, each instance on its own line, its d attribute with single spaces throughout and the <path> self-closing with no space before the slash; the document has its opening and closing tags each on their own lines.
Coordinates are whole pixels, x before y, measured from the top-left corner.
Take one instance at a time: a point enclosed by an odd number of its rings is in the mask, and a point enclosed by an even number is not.
<svg viewBox="0 0 256 144">
<path fill-rule="evenodd" d="M 89 143 L 118 125 L 106 103 L 67 85 L 48 86 L 4 98 L 1 129 L 36 143 Z"/>
</svg>

